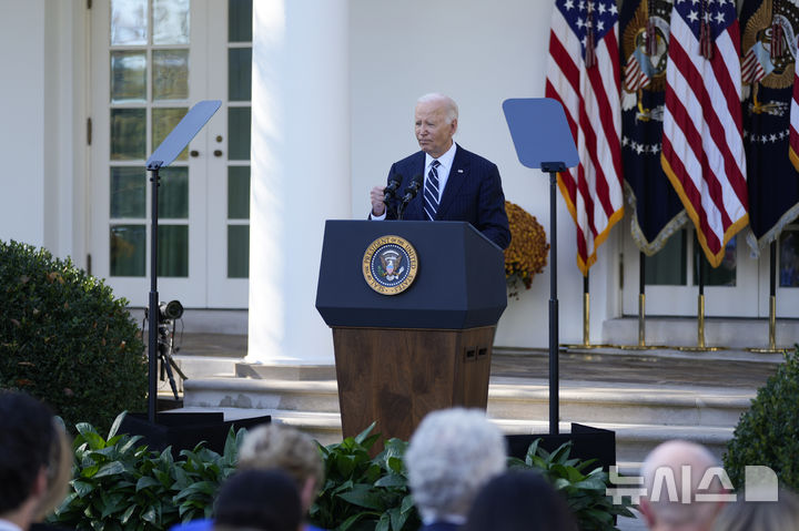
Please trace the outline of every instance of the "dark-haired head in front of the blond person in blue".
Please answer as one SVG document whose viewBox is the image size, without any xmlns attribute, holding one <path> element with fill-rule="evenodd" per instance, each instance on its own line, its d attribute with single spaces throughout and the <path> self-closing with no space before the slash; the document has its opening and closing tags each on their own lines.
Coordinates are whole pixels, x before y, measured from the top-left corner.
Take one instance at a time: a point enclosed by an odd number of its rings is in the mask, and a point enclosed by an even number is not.
<svg viewBox="0 0 799 531">
<path fill-rule="evenodd" d="M 243 470 L 222 484 L 214 530 L 297 531 L 302 502 L 294 479 L 282 470 Z"/>
</svg>

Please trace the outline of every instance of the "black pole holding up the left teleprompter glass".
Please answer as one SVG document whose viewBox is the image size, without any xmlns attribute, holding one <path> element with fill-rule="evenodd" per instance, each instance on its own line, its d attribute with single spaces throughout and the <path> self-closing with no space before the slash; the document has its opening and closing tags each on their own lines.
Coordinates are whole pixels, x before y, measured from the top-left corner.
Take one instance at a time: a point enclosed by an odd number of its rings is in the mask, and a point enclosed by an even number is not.
<svg viewBox="0 0 799 531">
<path fill-rule="evenodd" d="M 150 182 L 152 183 L 151 194 L 151 219 L 150 225 L 150 308 L 148 310 L 148 362 L 150 379 L 148 380 L 148 419 L 155 423 L 155 411 L 158 408 L 158 389 L 155 387 L 155 371 L 158 370 L 158 188 L 159 188 L 159 165 L 149 166 Z"/>
</svg>

